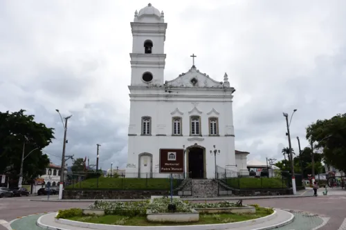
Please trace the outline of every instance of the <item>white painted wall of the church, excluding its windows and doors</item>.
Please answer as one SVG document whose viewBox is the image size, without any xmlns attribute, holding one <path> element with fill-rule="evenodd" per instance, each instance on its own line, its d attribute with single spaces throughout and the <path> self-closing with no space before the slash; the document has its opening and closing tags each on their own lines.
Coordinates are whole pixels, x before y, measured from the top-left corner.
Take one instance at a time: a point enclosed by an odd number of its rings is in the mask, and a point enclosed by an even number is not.
<svg viewBox="0 0 346 230">
<path fill-rule="evenodd" d="M 140 20 L 135 17 L 135 23 L 131 23 L 134 44 L 131 53 L 131 86 L 129 86 L 130 122 L 126 176 L 137 177 L 138 173 L 150 172 L 149 164 L 144 166 L 145 157 L 139 159 L 138 155 L 151 153 L 154 176 L 167 177 L 166 174 L 157 175 L 159 149 L 183 148 L 183 145 L 188 148 L 194 144 L 206 148 L 207 178 L 215 176 L 214 155 L 210 154 L 210 150 L 214 150 L 213 145 L 221 151 L 217 155 L 217 165 L 236 171 L 232 108 L 234 88 L 229 86 L 227 75 L 224 76 L 224 82 L 217 82 L 192 66 L 188 72 L 164 84 L 163 52 L 167 23 L 163 23 L 163 18 L 161 22 L 150 23 L 154 19 L 152 15 L 148 15 L 147 19 L 145 17 L 141 15 Z M 143 44 L 146 39 L 153 41 L 152 54 L 144 54 Z M 142 74 L 145 71 L 154 75 L 152 82 L 143 82 Z M 197 79 L 197 84 L 192 84 L 193 78 Z M 191 115 L 201 117 L 200 136 L 190 136 Z M 150 136 L 141 135 L 143 116 L 152 118 Z M 182 118 L 181 136 L 172 135 L 172 117 L 176 116 Z M 219 119 L 219 136 L 209 135 L 209 117 Z M 246 157 L 244 162 L 246 169 Z M 239 165 L 244 165 L 244 162 Z"/>
</svg>

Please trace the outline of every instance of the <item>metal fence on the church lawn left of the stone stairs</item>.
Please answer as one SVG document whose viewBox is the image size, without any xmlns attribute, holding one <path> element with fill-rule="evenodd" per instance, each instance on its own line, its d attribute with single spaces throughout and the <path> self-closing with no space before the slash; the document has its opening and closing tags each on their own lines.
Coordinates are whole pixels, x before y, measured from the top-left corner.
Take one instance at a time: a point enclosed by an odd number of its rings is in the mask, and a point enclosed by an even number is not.
<svg viewBox="0 0 346 230">
<path fill-rule="evenodd" d="M 172 174 L 173 189 L 184 179 L 183 174 Z M 65 180 L 66 190 L 156 190 L 170 191 L 170 174 L 162 173 L 120 173 L 100 175 L 94 172 L 68 173 Z"/>
</svg>

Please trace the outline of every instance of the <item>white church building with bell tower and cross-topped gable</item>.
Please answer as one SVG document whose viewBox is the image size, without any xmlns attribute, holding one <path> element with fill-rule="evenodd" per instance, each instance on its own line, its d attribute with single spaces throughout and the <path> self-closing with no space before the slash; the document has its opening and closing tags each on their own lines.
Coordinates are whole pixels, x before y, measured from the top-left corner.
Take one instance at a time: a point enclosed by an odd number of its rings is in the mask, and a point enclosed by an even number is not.
<svg viewBox="0 0 346 230">
<path fill-rule="evenodd" d="M 184 171 L 190 178 L 215 178 L 215 156 L 210 153 L 215 149 L 217 166 L 248 175 L 248 153 L 235 153 L 235 88 L 227 74 L 218 82 L 199 71 L 193 61 L 185 73 L 165 81 L 163 12 L 149 3 L 135 12 L 131 29 L 126 177 L 167 177 L 158 173 L 161 148 L 185 149 Z"/>
</svg>

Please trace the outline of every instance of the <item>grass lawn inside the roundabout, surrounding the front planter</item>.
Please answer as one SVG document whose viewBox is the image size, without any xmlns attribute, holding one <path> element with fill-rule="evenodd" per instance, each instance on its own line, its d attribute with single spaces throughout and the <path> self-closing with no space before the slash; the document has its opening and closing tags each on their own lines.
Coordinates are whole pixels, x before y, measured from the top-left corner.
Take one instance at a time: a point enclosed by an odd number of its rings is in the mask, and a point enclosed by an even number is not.
<svg viewBox="0 0 346 230">
<path fill-rule="evenodd" d="M 234 214 L 234 213 L 219 213 L 219 214 L 200 214 L 199 222 L 185 223 L 156 223 L 148 222 L 146 216 L 134 216 L 129 218 L 124 215 L 104 215 L 104 216 L 79 216 L 69 218 L 80 222 L 91 222 L 95 224 L 116 224 L 116 225 L 132 225 L 132 226 L 170 226 L 170 225 L 190 225 L 190 224 L 223 224 L 229 222 L 239 222 L 244 220 L 253 220 L 269 215 L 264 208 L 257 208 L 255 214 Z"/>
</svg>

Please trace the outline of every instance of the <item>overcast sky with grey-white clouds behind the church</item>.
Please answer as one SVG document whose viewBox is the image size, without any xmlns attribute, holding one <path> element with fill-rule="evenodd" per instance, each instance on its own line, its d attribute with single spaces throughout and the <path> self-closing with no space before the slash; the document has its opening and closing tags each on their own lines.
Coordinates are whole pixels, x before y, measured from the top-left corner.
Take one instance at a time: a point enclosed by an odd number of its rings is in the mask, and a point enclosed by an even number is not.
<svg viewBox="0 0 346 230">
<path fill-rule="evenodd" d="M 130 21 L 148 1 L 0 1 L 0 111 L 24 108 L 55 128 L 45 149 L 125 168 L 132 47 Z M 236 88 L 235 148 L 249 160 L 281 159 L 295 137 L 346 110 L 346 1 L 151 1 L 168 23 L 165 80 L 192 66 Z M 69 161 L 71 165 L 71 161 Z"/>
</svg>

